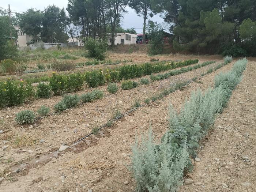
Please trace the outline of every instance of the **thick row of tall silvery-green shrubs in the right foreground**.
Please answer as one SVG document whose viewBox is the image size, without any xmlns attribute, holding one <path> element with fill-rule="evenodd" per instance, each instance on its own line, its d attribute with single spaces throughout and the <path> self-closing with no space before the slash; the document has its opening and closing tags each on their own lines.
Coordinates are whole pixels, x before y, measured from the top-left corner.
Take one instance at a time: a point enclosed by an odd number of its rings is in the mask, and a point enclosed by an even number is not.
<svg viewBox="0 0 256 192">
<path fill-rule="evenodd" d="M 190 158 L 197 156 L 199 141 L 211 129 L 215 117 L 227 106 L 232 91 L 242 79 L 246 59 L 238 60 L 228 72 L 214 79 L 214 88 L 203 94 L 194 91 L 177 113 L 170 106 L 169 130 L 161 142 L 153 142 L 150 128 L 132 148 L 132 171 L 138 191 L 176 191 L 184 173 L 193 169 Z"/>
</svg>

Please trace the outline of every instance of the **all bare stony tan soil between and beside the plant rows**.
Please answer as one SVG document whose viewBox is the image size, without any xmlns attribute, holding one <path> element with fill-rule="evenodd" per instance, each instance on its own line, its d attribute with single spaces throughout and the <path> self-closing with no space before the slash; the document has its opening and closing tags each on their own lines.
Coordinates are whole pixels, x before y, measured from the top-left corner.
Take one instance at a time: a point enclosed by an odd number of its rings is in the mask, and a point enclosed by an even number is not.
<svg viewBox="0 0 256 192">
<path fill-rule="evenodd" d="M 173 56 L 173 58 L 175 57 Z M 179 60 L 180 58 L 176 57 L 175 59 Z M 217 58 L 210 58 L 199 57 L 200 62 L 206 60 L 222 62 Z M 112 95 L 107 93 L 106 86 L 100 86 L 98 89 L 103 90 L 106 94 L 103 99 L 85 103 L 78 108 L 67 110 L 61 114 L 53 114 L 47 118 L 37 120 L 31 125 L 16 125 L 14 121 L 15 114 L 24 109 L 36 111 L 41 105 L 49 106 L 52 109 L 53 105 L 60 101 L 61 96 L 39 99 L 30 104 L 1 110 L 0 117 L 4 117 L 4 123 L 0 125 L 0 129 L 4 133 L 0 134 L 0 178 L 4 177 L 4 180 L 0 181 L 0 191 L 88 191 L 88 189 L 93 191 L 134 191 L 135 182 L 132 179 L 132 173 L 129 171 L 129 165 L 131 164 L 131 146 L 135 143 L 135 137 L 139 136 L 141 132 L 147 132 L 151 124 L 156 136 L 155 140 L 158 142 L 168 129 L 169 103 L 172 103 L 174 108 L 180 109 L 193 90 L 199 87 L 205 90 L 209 85 L 213 85 L 214 76 L 220 71 L 229 70 L 233 63 L 234 61 L 206 76 L 200 76 L 200 74 L 216 64 L 171 76 L 168 79 L 152 82 L 149 85 L 140 85 L 132 90 L 119 89 L 116 94 Z M 247 181 L 251 183 L 248 190 L 255 187 L 255 165 L 252 166 L 252 162 L 255 161 L 252 158 L 255 158 L 256 153 L 255 131 L 253 131 L 253 128 L 255 129 L 255 120 L 253 119 L 255 118 L 255 105 L 253 105 L 253 102 L 255 103 L 255 64 L 255 62 L 249 61 L 244 79 L 234 91 L 229 107 L 218 116 L 213 132 L 208 136 L 210 142 L 209 140 L 202 142 L 202 146 L 206 145 L 199 151 L 199 157 L 202 161 L 195 165 L 193 174 L 187 176 L 193 178 L 195 182 L 197 182 L 196 175 L 199 175 L 199 171 L 203 174 L 204 167 L 207 167 L 209 161 L 213 161 L 212 158 L 216 157 L 220 159 L 221 163 L 227 161 L 234 163 L 225 172 L 230 172 L 232 167 L 237 168 L 236 162 L 239 162 L 240 170 L 242 170 L 239 173 L 247 174 L 245 175 Z M 129 116 L 123 117 L 111 127 L 103 128 L 99 135 L 91 135 L 77 145 L 72 146 L 78 139 L 90 133 L 92 127 L 105 124 L 109 118 L 112 118 L 115 110 L 119 109 L 125 112 L 131 109 L 135 98 L 141 99 L 143 103 L 146 97 L 158 93 L 162 87 L 178 79 L 186 80 L 194 76 L 199 77 L 197 82 L 192 82 L 183 90 L 175 91 L 162 100 L 133 111 Z M 135 81 L 139 81 L 139 78 Z M 244 86 L 242 86 L 243 83 L 245 83 Z M 91 90 L 85 87 L 78 94 Z M 250 101 L 246 100 L 247 98 Z M 235 101 L 239 99 L 241 103 L 235 102 L 234 99 Z M 235 105 L 232 106 L 232 104 Z M 230 125 L 228 126 L 230 132 L 225 129 L 227 123 Z M 222 128 L 218 128 L 218 125 L 221 125 Z M 233 130 L 233 128 L 236 129 Z M 248 128 L 248 130 L 244 130 L 245 128 Z M 214 131 L 218 131 L 218 134 L 214 134 Z M 233 132 L 234 135 L 231 134 Z M 248 136 L 245 138 L 243 136 L 238 137 L 235 134 L 237 132 L 241 134 L 248 132 Z M 216 134 L 220 141 L 216 141 Z M 230 139 L 226 139 L 227 137 Z M 239 139 L 245 140 L 238 142 Z M 233 148 L 235 142 L 238 142 L 236 149 Z M 72 147 L 64 152 L 57 153 L 56 151 L 61 144 Z M 207 146 L 211 149 L 206 151 Z M 231 154 L 236 154 L 236 161 L 225 156 L 227 152 L 225 153 L 224 146 L 230 148 Z M 222 150 L 219 150 L 220 148 Z M 33 153 L 29 153 L 29 150 Z M 215 155 L 214 153 L 218 154 Z M 250 162 L 241 160 L 240 156 L 245 155 L 249 156 Z M 221 163 L 219 166 L 222 165 Z M 221 166 L 220 170 L 218 169 L 218 177 L 221 177 L 221 181 L 224 178 L 222 178 L 222 174 L 224 175 L 222 169 L 226 169 L 225 166 L 224 168 Z M 19 173 L 13 172 L 18 169 L 20 169 Z M 213 170 L 215 171 L 215 169 Z M 216 176 L 213 170 L 206 173 L 206 179 Z M 229 174 L 232 174 L 232 172 Z M 238 181 L 240 176 L 233 174 L 234 181 L 232 185 L 247 190 L 247 187 L 243 188 L 244 185 L 240 185 L 240 181 Z M 128 184 L 124 184 L 125 181 Z M 200 181 L 203 183 L 202 180 Z M 223 180 L 223 182 L 227 181 Z M 217 188 L 217 184 L 219 183 L 214 180 L 208 182 L 209 187 L 207 188 L 186 185 L 182 186 L 180 190 L 224 190 L 222 186 Z"/>
</svg>

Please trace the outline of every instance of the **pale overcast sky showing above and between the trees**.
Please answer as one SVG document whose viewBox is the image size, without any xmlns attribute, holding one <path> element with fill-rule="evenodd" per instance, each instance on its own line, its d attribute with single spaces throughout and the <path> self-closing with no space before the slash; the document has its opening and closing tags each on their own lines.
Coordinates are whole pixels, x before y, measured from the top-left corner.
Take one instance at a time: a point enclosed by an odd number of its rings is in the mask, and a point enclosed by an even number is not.
<svg viewBox="0 0 256 192">
<path fill-rule="evenodd" d="M 23 12 L 28 8 L 36 8 L 38 10 L 44 10 L 48 5 L 56 5 L 60 8 L 66 8 L 68 0 L 0 0 L 0 7 L 7 9 L 8 4 L 10 4 L 12 12 Z M 127 7 L 128 14 L 123 15 L 122 27 L 134 27 L 142 28 L 143 27 L 143 18 L 139 17 L 135 11 Z M 163 19 L 159 15 L 154 15 L 151 20 L 162 23 Z M 135 29 L 138 33 L 141 33 L 143 29 Z"/>
</svg>

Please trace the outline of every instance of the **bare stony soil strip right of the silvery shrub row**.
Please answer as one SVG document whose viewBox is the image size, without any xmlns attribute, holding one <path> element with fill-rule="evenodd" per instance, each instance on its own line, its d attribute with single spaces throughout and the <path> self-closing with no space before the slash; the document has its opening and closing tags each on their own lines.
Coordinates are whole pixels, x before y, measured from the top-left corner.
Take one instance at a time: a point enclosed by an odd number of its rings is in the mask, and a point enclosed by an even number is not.
<svg viewBox="0 0 256 192">
<path fill-rule="evenodd" d="M 201 145 L 193 174 L 202 185 L 184 185 L 180 191 L 256 191 L 256 62 L 250 62 L 228 107 L 215 121 Z M 198 183 L 197 183 L 198 184 Z"/>
</svg>

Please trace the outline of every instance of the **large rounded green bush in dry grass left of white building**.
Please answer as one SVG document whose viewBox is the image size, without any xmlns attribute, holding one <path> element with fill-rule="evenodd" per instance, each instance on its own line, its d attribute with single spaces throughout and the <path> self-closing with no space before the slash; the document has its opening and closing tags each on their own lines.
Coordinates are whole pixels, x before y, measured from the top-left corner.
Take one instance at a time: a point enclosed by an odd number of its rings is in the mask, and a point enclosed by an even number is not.
<svg viewBox="0 0 256 192">
<path fill-rule="evenodd" d="M 93 39 L 88 37 L 84 42 L 84 47 L 88 50 L 90 57 L 94 57 L 97 60 L 104 60 L 106 57 L 108 43 L 106 38 Z"/>
</svg>

